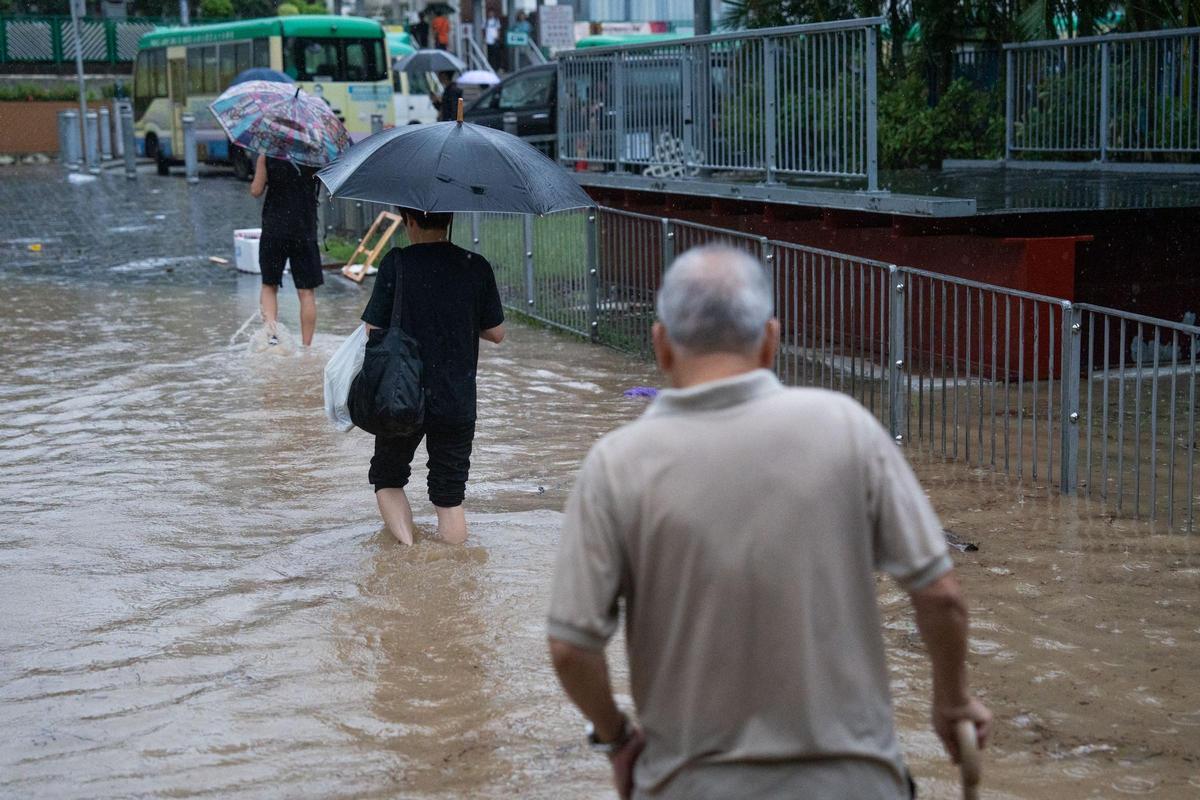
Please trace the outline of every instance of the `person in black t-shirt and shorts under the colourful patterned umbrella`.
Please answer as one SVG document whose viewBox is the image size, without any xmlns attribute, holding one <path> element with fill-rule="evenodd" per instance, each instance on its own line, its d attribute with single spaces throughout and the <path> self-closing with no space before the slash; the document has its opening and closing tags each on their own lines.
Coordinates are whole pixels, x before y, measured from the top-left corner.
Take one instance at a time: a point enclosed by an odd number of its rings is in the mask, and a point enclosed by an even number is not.
<svg viewBox="0 0 1200 800">
<path fill-rule="evenodd" d="M 280 314 L 278 293 L 283 266 L 290 263 L 292 282 L 300 297 L 300 339 L 312 344 L 317 330 L 317 287 L 325 282 L 317 247 L 317 174 L 316 168 L 259 155 L 253 197 L 263 200 L 263 235 L 258 242 L 258 269 L 263 273 L 260 305 L 263 319 L 276 344 L 275 323 Z"/>
</svg>

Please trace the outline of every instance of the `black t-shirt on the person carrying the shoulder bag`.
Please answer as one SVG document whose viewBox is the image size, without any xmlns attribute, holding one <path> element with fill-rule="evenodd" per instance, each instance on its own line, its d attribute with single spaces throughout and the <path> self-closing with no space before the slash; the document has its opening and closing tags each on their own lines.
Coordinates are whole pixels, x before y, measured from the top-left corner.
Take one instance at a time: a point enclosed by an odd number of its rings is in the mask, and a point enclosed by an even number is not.
<svg viewBox="0 0 1200 800">
<path fill-rule="evenodd" d="M 473 421 L 479 332 L 504 321 L 492 265 L 450 242 L 392 249 L 379 265 L 362 321 L 376 327 L 391 324 L 397 263 L 404 270 L 400 326 L 421 347 L 426 416 Z"/>
</svg>

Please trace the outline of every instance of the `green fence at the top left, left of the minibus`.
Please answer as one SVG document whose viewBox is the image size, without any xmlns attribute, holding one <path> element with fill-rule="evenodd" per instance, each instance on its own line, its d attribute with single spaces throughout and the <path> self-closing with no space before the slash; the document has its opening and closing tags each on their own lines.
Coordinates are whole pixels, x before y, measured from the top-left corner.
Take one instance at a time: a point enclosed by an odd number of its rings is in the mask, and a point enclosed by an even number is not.
<svg viewBox="0 0 1200 800">
<path fill-rule="evenodd" d="M 163 24 L 160 19 L 82 19 L 79 38 L 89 64 L 127 65 L 138 54 L 138 40 Z M 0 64 L 73 64 L 71 17 L 0 18 Z"/>
</svg>

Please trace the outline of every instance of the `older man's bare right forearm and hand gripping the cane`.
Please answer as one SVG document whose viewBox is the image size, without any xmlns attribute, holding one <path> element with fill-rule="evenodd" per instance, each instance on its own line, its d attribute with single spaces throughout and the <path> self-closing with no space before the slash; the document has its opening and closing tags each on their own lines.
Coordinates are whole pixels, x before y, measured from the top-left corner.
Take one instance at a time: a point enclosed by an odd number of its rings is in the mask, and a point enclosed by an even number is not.
<svg viewBox="0 0 1200 800">
<path fill-rule="evenodd" d="M 991 711 L 967 688 L 967 606 L 959 579 L 953 571 L 947 572 L 912 593 L 912 604 L 934 673 L 934 730 L 958 763 L 955 722 L 974 722 L 980 747 L 991 733 Z"/>
</svg>

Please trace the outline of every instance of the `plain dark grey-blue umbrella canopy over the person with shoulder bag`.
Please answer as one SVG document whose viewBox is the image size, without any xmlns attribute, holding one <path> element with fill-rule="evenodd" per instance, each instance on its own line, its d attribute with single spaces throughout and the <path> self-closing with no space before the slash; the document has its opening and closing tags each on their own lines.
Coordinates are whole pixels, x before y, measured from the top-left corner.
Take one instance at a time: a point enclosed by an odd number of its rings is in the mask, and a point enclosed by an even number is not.
<svg viewBox="0 0 1200 800">
<path fill-rule="evenodd" d="M 317 178 L 334 197 L 420 211 L 540 215 L 595 205 L 570 173 L 528 143 L 462 122 L 383 131 Z"/>
</svg>

